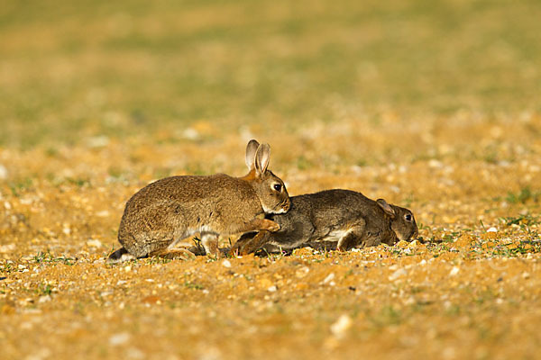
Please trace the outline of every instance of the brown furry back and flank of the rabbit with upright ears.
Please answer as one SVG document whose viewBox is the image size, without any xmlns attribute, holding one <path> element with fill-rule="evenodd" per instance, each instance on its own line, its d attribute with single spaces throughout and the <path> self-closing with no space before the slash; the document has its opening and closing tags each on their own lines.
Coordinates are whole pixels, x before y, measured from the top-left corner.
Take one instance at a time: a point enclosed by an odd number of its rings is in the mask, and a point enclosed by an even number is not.
<svg viewBox="0 0 541 360">
<path fill-rule="evenodd" d="M 120 237 L 126 230 L 182 227 L 203 224 L 215 232 L 262 213 L 252 186 L 229 175 L 171 176 L 143 187 L 126 203 Z M 170 229 L 167 229 L 170 230 Z"/>
</svg>

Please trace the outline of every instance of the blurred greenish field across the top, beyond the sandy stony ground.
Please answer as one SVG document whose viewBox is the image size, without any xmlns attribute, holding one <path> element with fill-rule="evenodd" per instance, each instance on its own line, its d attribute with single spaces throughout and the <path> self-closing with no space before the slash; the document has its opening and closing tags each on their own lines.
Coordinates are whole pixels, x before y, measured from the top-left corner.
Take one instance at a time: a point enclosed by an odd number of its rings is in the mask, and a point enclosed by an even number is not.
<svg viewBox="0 0 541 360">
<path fill-rule="evenodd" d="M 529 119 L 539 19 L 536 0 L 2 0 L 0 146 Z"/>
</svg>

